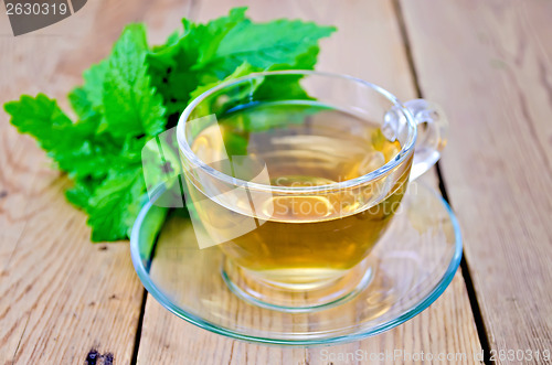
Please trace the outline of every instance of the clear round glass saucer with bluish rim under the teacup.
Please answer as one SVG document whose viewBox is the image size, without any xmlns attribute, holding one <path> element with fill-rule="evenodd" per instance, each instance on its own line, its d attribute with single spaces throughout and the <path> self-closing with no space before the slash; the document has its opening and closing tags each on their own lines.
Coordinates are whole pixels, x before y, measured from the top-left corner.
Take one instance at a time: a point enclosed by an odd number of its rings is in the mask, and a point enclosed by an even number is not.
<svg viewBox="0 0 552 365">
<path fill-rule="evenodd" d="M 162 193 L 159 198 L 162 198 Z M 233 339 L 284 345 L 357 341 L 388 331 L 433 303 L 461 257 L 458 223 L 433 189 L 413 182 L 388 232 L 370 254 L 370 282 L 332 305 L 275 310 L 234 293 L 216 246 L 200 249 L 189 218 L 171 213 L 159 235 L 148 203 L 132 228 L 130 251 L 153 298 L 181 319 Z M 302 293 L 308 296 L 308 292 Z"/>
</svg>

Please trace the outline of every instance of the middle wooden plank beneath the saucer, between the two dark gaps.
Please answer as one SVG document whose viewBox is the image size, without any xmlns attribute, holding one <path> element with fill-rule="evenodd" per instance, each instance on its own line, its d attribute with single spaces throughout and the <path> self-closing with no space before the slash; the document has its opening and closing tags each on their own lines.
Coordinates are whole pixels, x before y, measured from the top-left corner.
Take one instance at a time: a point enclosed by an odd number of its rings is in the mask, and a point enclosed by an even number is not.
<svg viewBox="0 0 552 365">
<path fill-rule="evenodd" d="M 248 4 L 252 18 L 258 21 L 286 17 L 337 25 L 339 31 L 322 41 L 319 69 L 349 73 L 373 80 L 403 99 L 415 97 L 390 1 L 341 1 L 339 7 L 335 7 L 335 2 L 329 0 L 255 3 L 204 0 L 198 4 L 195 19 L 209 20 L 242 4 Z M 435 184 L 434 178 L 425 176 Z M 325 361 L 322 348 L 333 354 L 357 350 L 392 353 L 395 348 L 410 353 L 458 352 L 468 356 L 458 364 L 473 364 L 469 356 L 478 353 L 480 345 L 463 277 L 458 272 L 443 297 L 412 321 L 375 337 L 330 347 L 276 347 L 233 341 L 179 320 L 148 297 L 138 363 L 329 364 Z M 384 363 L 395 364 L 395 361 L 388 358 Z"/>
</svg>

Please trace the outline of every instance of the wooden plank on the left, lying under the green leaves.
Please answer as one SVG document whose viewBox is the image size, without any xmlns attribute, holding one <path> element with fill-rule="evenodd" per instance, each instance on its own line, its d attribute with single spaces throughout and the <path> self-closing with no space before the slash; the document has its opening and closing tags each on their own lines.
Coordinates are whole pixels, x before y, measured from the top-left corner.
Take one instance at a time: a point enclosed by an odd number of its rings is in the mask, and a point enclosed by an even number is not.
<svg viewBox="0 0 552 365">
<path fill-rule="evenodd" d="M 189 2 L 88 1 L 75 15 L 13 37 L 0 14 L 0 101 L 43 92 L 62 99 L 123 26 L 146 21 L 157 42 Z M 170 24 L 172 23 L 172 24 Z M 91 348 L 130 363 L 142 287 L 128 245 L 93 245 L 68 181 L 0 112 L 0 363 L 82 364 Z"/>
</svg>

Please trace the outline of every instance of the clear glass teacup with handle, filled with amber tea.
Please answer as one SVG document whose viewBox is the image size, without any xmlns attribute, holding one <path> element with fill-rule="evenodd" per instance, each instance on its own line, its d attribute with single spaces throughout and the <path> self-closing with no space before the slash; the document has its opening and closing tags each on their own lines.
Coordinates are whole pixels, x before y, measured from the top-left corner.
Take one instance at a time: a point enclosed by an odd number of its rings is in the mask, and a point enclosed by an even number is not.
<svg viewBox="0 0 552 365">
<path fill-rule="evenodd" d="M 177 127 L 200 248 L 216 245 L 226 283 L 258 305 L 310 310 L 350 298 L 370 281 L 369 254 L 408 181 L 438 160 L 445 129 L 437 106 L 403 105 L 350 76 L 224 82 Z"/>
</svg>

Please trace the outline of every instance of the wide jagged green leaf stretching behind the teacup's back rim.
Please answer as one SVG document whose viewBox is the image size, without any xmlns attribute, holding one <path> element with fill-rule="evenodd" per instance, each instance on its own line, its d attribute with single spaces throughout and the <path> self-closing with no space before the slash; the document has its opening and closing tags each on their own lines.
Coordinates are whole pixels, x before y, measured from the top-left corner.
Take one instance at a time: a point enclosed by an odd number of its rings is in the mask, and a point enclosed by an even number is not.
<svg viewBox="0 0 552 365">
<path fill-rule="evenodd" d="M 168 115 L 180 115 L 198 86 L 224 79 L 244 63 L 255 71 L 312 68 L 318 41 L 335 31 L 299 20 L 254 23 L 245 17 L 245 8 L 206 24 L 187 20 L 183 24 L 178 42 L 148 56 L 152 84 L 162 94 Z"/>
</svg>

